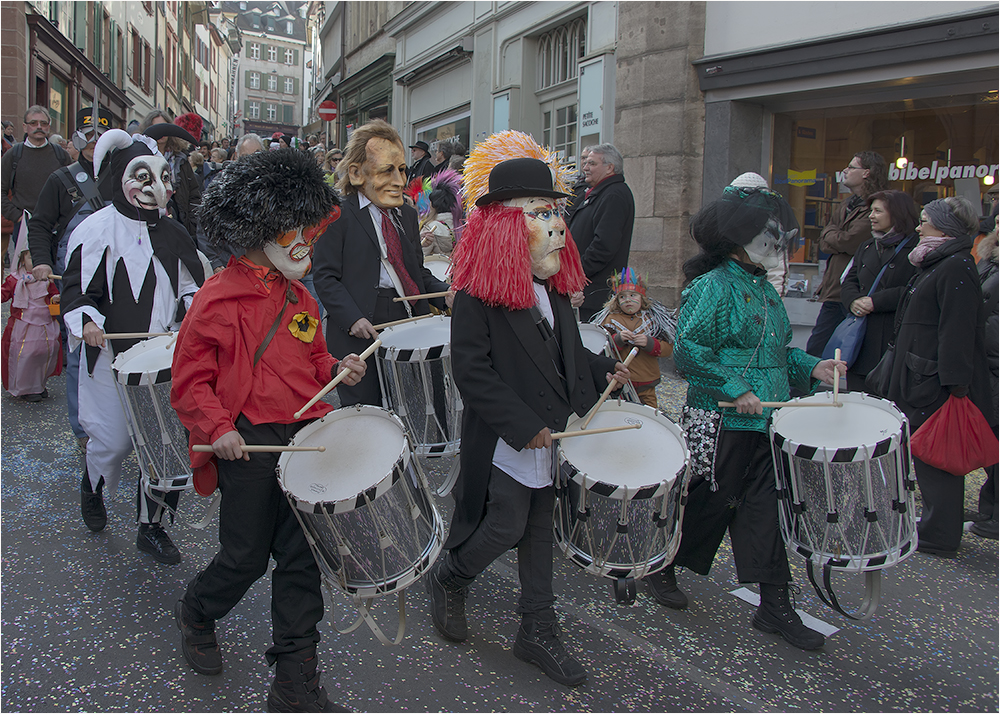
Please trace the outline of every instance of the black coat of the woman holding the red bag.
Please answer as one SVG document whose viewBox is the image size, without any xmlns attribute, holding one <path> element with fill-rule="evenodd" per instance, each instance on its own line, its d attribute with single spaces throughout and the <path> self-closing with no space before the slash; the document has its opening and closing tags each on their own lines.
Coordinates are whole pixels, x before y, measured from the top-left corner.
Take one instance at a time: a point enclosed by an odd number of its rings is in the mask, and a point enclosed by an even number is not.
<svg viewBox="0 0 1000 714">
<path fill-rule="evenodd" d="M 900 304 L 889 399 L 910 419 L 911 431 L 948 400 L 949 387 L 967 388 L 986 421 L 997 423 L 986 306 L 971 248 L 972 239 L 961 237 L 931 251 Z"/>
</svg>

